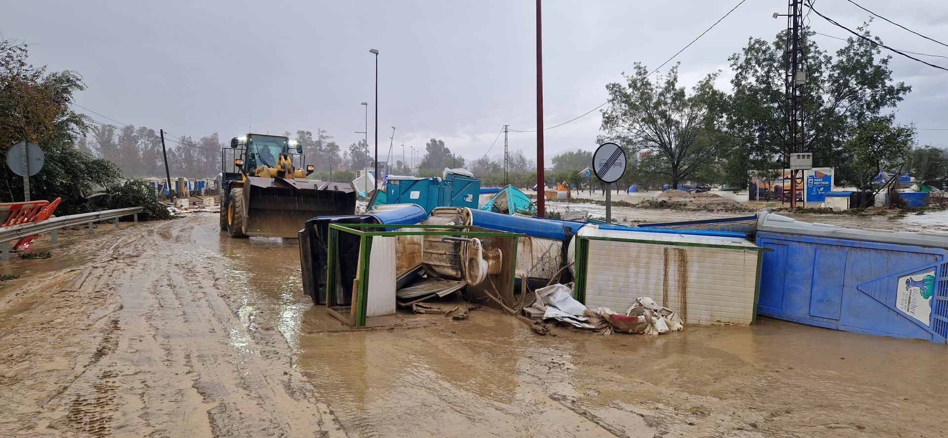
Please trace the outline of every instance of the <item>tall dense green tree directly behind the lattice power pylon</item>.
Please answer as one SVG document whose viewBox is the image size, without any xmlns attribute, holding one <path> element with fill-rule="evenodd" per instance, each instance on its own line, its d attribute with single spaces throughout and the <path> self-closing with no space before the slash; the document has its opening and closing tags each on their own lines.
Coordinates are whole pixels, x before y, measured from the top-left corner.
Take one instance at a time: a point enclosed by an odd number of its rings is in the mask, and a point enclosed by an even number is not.
<svg viewBox="0 0 948 438">
<path fill-rule="evenodd" d="M 881 43 L 869 34 L 867 25 L 859 29 Z M 848 139 L 866 120 L 894 108 L 911 87 L 892 80 L 891 57 L 881 56 L 877 46 L 850 37 L 833 57 L 813 42 L 812 35 L 809 29 L 804 32 L 804 149 L 813 154 L 814 166 L 841 168 L 848 159 Z M 730 58 L 735 73 L 728 103 L 730 147 L 721 166 L 729 184 L 746 187 L 751 169 L 782 169 L 791 152 L 785 140 L 789 114 L 784 95 L 786 41 L 786 31 L 773 42 L 751 38 Z"/>
</svg>

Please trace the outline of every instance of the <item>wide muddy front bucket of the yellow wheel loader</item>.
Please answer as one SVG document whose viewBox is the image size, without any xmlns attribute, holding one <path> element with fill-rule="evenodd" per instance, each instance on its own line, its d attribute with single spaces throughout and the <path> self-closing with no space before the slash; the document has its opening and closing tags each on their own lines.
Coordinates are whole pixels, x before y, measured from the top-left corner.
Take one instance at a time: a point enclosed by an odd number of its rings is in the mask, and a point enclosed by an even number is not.
<svg viewBox="0 0 948 438">
<path fill-rule="evenodd" d="M 297 237 L 316 216 L 355 213 L 356 191 L 352 184 L 248 176 L 244 206 L 246 235 Z"/>
</svg>

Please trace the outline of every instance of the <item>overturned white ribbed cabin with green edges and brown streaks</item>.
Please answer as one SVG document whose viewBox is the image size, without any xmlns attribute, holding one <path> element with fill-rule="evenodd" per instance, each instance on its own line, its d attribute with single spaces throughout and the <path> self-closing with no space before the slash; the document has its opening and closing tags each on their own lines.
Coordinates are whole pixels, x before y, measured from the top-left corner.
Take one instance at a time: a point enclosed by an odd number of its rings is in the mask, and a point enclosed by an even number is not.
<svg viewBox="0 0 948 438">
<path fill-rule="evenodd" d="M 574 294 L 588 307 L 625 313 L 650 297 L 692 324 L 750 324 L 757 314 L 760 248 L 741 233 L 587 226 L 574 246 Z"/>
</svg>

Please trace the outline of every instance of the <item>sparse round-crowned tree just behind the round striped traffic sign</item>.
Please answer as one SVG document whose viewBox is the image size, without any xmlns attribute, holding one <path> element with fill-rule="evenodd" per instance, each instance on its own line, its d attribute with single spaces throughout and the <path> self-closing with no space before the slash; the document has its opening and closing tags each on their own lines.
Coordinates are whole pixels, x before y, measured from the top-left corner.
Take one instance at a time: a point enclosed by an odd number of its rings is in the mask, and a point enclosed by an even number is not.
<svg viewBox="0 0 948 438">
<path fill-rule="evenodd" d="M 650 155 L 640 160 L 640 172 L 663 175 L 672 187 L 712 163 L 720 144 L 717 123 L 723 93 L 710 74 L 689 95 L 678 85 L 678 66 L 651 82 L 647 68 L 635 64 L 626 84 L 606 85 L 610 106 L 603 111 L 601 140 L 618 140 L 632 152 Z"/>
</svg>

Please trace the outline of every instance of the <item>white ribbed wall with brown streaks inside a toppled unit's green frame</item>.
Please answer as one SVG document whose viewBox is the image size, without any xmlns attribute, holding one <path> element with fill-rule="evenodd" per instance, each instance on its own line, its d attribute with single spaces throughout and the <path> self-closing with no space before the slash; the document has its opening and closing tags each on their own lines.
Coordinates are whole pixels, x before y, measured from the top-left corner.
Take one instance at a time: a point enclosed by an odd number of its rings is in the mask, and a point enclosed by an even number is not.
<svg viewBox="0 0 948 438">
<path fill-rule="evenodd" d="M 665 236 L 683 240 L 680 235 Z M 690 241 L 705 240 L 702 237 L 684 240 L 699 243 Z M 749 324 L 754 318 L 759 253 L 753 245 L 740 246 L 747 248 L 590 240 L 586 305 L 625 312 L 635 299 L 651 297 L 677 310 L 685 323 Z"/>
</svg>

